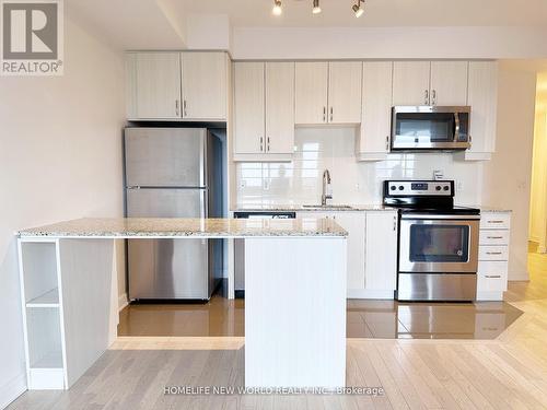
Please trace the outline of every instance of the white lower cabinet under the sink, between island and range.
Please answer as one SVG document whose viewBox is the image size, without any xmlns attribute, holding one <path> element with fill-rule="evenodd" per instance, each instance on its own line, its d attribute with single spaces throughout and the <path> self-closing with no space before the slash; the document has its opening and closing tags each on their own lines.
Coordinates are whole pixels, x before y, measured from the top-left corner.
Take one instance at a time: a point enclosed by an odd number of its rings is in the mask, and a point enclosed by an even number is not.
<svg viewBox="0 0 547 410">
<path fill-rule="evenodd" d="M 397 284 L 397 212 L 299 212 L 331 218 L 348 232 L 348 297 L 393 298 Z"/>
</svg>

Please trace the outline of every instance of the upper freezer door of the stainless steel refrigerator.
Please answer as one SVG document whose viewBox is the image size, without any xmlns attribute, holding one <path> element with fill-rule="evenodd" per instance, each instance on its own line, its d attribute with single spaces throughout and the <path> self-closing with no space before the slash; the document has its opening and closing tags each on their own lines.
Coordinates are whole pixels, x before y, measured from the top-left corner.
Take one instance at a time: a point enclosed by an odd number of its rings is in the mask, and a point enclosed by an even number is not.
<svg viewBox="0 0 547 410">
<path fill-rule="evenodd" d="M 207 130 L 126 128 L 126 184 L 129 187 L 206 186 Z"/>
</svg>

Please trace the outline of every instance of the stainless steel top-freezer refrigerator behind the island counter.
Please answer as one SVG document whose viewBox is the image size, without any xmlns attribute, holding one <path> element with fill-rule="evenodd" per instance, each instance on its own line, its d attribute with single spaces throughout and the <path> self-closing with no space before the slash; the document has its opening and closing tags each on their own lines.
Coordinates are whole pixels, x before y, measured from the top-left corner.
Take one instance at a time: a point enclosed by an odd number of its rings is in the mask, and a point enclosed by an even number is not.
<svg viewBox="0 0 547 410">
<path fill-rule="evenodd" d="M 221 152 L 205 128 L 126 128 L 127 216 L 222 216 Z M 129 239 L 129 300 L 208 300 L 222 248 L 222 239 Z"/>
</svg>

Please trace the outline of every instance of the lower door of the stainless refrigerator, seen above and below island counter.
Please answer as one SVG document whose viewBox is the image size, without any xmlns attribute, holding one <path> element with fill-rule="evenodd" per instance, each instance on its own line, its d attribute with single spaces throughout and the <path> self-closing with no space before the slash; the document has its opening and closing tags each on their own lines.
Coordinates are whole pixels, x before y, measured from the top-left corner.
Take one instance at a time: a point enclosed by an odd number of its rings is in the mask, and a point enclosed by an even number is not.
<svg viewBox="0 0 547 410">
<path fill-rule="evenodd" d="M 207 189 L 127 189 L 130 218 L 206 218 Z M 129 298 L 199 298 L 212 291 L 210 241 L 129 239 Z"/>
</svg>

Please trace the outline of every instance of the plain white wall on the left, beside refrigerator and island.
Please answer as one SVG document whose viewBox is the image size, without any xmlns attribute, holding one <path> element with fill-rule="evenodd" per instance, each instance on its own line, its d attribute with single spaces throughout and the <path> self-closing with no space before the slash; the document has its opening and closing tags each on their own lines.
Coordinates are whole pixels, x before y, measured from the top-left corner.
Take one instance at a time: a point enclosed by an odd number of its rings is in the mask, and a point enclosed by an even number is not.
<svg viewBox="0 0 547 410">
<path fill-rule="evenodd" d="M 123 56 L 65 23 L 63 77 L 0 78 L 0 408 L 25 388 L 14 231 L 123 214 Z"/>
</svg>

